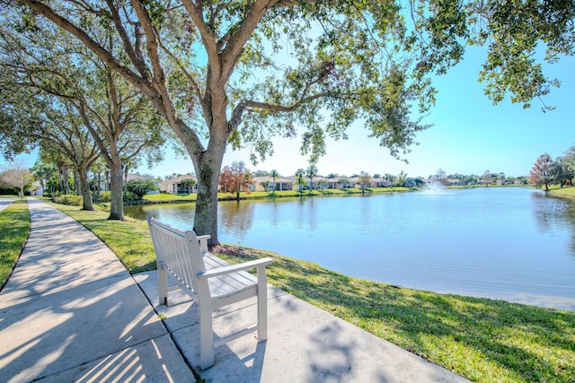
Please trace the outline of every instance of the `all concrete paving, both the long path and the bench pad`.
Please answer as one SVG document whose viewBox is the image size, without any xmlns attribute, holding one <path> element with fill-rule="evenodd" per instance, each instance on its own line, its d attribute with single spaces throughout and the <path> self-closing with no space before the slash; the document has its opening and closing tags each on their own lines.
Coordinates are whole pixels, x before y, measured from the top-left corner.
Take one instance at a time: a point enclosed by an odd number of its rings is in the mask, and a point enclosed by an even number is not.
<svg viewBox="0 0 575 383">
<path fill-rule="evenodd" d="M 132 278 L 90 231 L 29 204 L 31 236 L 0 292 L 0 381 L 190 382 L 188 365 L 208 382 L 466 381 L 272 286 L 268 341 L 218 347 L 201 371 L 199 315 L 185 294 L 158 305 L 155 272 Z M 254 318 L 254 303 L 218 311 L 217 335 Z"/>
</svg>

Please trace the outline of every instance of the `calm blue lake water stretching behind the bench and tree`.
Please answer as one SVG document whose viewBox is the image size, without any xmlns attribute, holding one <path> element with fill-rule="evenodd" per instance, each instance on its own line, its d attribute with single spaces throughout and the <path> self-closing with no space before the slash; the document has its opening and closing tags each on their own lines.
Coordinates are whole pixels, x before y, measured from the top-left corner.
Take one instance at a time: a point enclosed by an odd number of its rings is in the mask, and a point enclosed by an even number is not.
<svg viewBox="0 0 575 383">
<path fill-rule="evenodd" d="M 434 292 L 575 309 L 575 204 L 526 187 L 219 203 L 219 240 Z M 181 229 L 193 204 L 126 207 Z"/>
</svg>

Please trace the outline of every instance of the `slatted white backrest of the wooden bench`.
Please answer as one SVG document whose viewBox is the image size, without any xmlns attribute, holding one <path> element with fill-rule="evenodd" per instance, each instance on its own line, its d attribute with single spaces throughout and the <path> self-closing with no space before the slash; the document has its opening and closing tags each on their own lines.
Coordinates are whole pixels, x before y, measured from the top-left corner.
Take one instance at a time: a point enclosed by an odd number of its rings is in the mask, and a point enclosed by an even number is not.
<svg viewBox="0 0 575 383">
<path fill-rule="evenodd" d="M 196 278 L 206 271 L 196 233 L 180 231 L 151 216 L 147 217 L 147 222 L 158 267 L 167 268 L 194 292 L 204 290 L 199 288 Z"/>
</svg>

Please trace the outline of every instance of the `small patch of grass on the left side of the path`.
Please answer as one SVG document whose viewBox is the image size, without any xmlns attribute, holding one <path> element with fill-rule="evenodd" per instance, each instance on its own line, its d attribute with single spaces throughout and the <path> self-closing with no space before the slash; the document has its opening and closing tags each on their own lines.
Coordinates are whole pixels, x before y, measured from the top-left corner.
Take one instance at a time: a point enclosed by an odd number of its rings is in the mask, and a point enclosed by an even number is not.
<svg viewBox="0 0 575 383">
<path fill-rule="evenodd" d="M 12 273 L 30 232 L 26 200 L 17 200 L 0 212 L 0 289 Z"/>
</svg>

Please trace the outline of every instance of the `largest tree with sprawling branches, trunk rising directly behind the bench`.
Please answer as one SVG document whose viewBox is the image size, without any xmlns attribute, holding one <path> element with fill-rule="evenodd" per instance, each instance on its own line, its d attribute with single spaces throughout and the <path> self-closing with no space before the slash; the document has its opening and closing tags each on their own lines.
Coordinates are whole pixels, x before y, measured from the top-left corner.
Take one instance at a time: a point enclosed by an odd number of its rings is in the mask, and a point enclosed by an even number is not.
<svg viewBox="0 0 575 383">
<path fill-rule="evenodd" d="M 199 176 L 194 229 L 217 244 L 217 180 L 226 145 L 272 152 L 271 135 L 304 129 L 312 162 L 324 138 L 361 119 L 395 156 L 425 128 L 411 103 L 433 103 L 430 74 L 464 45 L 489 44 L 482 70 L 495 102 L 528 104 L 555 85 L 534 59 L 571 54 L 571 1 L 18 0 L 80 39 L 152 100 Z M 27 12 L 28 9 L 34 13 Z M 98 28 L 100 26 L 100 28 Z M 121 55 L 95 30 L 122 41 Z M 99 33 L 100 33 L 99 32 Z"/>
</svg>

